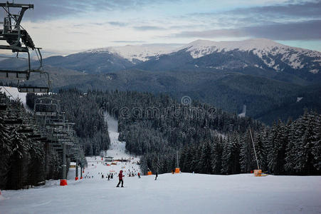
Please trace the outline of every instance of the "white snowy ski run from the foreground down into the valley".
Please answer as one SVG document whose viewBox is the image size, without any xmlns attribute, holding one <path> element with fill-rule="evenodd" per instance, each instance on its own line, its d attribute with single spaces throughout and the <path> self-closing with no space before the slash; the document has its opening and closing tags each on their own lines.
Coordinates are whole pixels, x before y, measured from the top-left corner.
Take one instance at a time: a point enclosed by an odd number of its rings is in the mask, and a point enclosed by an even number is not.
<svg viewBox="0 0 321 214">
<path fill-rule="evenodd" d="M 106 117 L 107 118 L 107 117 Z M 117 141 L 117 121 L 107 118 L 111 148 L 107 156 L 130 158 L 125 143 Z M 135 158 L 133 161 L 137 161 Z M 125 188 L 115 188 L 118 179 L 101 178 L 110 170 L 117 173 L 138 165 L 102 164 L 101 158 L 88 157 L 88 168 L 74 180 L 70 168 L 68 185 L 47 180 L 46 185 L 29 190 L 2 190 L 0 213 L 320 213 L 321 176 L 273 176 L 252 174 L 202 175 L 161 174 L 128 177 Z M 80 173 L 80 171 L 79 171 Z M 80 176 L 80 174 L 78 175 Z"/>
</svg>

